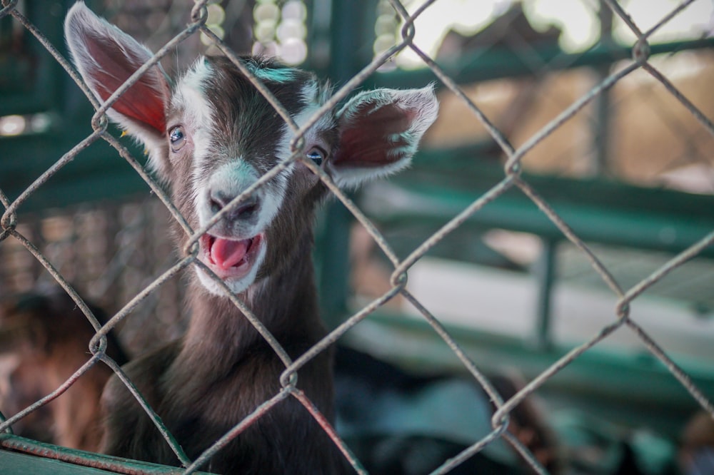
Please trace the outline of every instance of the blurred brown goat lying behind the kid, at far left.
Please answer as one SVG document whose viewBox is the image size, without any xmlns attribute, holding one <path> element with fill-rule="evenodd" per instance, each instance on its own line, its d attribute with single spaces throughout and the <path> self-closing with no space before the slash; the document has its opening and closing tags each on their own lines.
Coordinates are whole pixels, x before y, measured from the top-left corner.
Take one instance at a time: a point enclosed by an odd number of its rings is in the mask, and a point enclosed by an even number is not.
<svg viewBox="0 0 714 475">
<path fill-rule="evenodd" d="M 104 315 L 92 309 L 100 321 Z M 0 309 L 0 358 L 6 363 L 0 409 L 14 415 L 64 384 L 91 357 L 94 328 L 61 290 L 11 297 Z M 114 336 L 107 354 L 126 356 Z M 99 362 L 54 401 L 14 424 L 16 434 L 72 449 L 96 451 L 101 440 L 99 399 L 112 371 Z"/>
</svg>

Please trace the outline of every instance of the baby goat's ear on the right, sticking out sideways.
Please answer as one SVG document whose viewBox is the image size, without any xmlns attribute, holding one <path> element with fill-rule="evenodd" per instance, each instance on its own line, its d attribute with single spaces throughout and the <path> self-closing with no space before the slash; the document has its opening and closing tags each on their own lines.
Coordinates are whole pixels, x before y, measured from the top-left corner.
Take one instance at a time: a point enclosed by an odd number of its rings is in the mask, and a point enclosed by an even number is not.
<svg viewBox="0 0 714 475">
<path fill-rule="evenodd" d="M 433 86 L 359 93 L 338 112 L 340 141 L 328 165 L 333 179 L 355 188 L 403 170 L 437 113 Z"/>
</svg>

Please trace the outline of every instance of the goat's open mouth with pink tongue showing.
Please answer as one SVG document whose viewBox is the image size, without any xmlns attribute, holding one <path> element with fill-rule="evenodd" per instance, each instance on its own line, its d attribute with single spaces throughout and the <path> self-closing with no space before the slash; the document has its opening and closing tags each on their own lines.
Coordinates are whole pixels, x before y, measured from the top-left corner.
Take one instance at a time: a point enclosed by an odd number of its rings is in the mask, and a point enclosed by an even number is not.
<svg viewBox="0 0 714 475">
<path fill-rule="evenodd" d="M 263 242 L 263 235 L 231 240 L 204 234 L 201 237 L 203 262 L 221 279 L 236 279 L 250 272 Z"/>
</svg>

